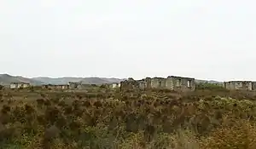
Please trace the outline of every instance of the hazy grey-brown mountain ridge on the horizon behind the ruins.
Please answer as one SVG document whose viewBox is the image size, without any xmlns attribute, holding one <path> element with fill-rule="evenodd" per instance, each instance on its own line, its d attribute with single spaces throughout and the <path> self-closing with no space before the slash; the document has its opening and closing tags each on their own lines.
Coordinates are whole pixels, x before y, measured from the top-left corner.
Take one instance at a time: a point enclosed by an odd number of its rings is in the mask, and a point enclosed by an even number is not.
<svg viewBox="0 0 256 149">
<path fill-rule="evenodd" d="M 11 76 L 9 74 L 0 74 L 0 84 L 9 85 L 10 83 L 31 83 L 32 85 L 42 85 L 42 84 L 67 84 L 69 82 L 82 82 L 85 84 L 102 84 L 102 83 L 119 83 L 124 81 L 120 78 L 108 78 L 108 77 L 20 77 Z M 196 80 L 195 83 L 222 83 L 217 81 L 207 81 L 207 80 Z"/>
</svg>

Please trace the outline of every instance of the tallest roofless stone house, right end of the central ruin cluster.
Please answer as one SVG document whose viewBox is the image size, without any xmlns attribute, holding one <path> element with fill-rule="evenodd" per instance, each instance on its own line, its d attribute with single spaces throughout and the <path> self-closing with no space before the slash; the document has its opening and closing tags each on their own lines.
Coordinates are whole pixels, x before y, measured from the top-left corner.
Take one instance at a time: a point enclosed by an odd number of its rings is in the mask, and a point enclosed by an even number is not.
<svg viewBox="0 0 256 149">
<path fill-rule="evenodd" d="M 166 89 L 193 91 L 195 90 L 195 78 L 169 76 L 166 78 Z"/>
</svg>

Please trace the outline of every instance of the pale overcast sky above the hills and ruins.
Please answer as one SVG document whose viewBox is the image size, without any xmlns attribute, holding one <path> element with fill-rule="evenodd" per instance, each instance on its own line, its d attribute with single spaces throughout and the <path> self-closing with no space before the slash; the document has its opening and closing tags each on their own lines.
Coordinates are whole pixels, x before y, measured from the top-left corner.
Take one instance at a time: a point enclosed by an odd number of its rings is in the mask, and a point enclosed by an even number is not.
<svg viewBox="0 0 256 149">
<path fill-rule="evenodd" d="M 1 0 L 0 73 L 256 80 L 253 0 Z"/>
</svg>

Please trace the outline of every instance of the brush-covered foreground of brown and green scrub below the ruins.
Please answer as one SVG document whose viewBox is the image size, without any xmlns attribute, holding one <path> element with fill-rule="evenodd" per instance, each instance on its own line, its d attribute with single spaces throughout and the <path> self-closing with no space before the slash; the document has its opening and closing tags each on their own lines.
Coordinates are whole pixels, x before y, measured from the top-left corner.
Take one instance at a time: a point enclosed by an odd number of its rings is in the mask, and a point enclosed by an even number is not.
<svg viewBox="0 0 256 149">
<path fill-rule="evenodd" d="M 253 92 L 0 92 L 2 148 L 256 148 Z"/>
</svg>

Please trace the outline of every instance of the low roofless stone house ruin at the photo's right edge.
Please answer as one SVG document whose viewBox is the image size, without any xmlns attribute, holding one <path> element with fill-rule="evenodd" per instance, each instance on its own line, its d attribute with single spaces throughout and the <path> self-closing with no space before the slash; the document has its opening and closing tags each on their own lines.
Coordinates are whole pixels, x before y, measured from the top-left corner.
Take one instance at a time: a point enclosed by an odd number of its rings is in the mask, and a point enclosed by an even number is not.
<svg viewBox="0 0 256 149">
<path fill-rule="evenodd" d="M 230 90 L 254 90 L 256 84 L 252 81 L 230 81 L 224 82 L 224 88 Z"/>
</svg>

